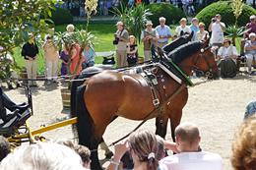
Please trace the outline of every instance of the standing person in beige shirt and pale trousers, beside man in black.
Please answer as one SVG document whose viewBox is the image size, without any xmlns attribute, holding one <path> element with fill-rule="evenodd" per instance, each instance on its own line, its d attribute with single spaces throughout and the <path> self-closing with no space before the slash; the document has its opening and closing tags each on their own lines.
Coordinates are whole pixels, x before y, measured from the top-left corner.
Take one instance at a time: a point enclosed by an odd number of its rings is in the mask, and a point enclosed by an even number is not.
<svg viewBox="0 0 256 170">
<path fill-rule="evenodd" d="M 47 35 L 46 41 L 42 45 L 45 62 L 46 62 L 46 79 L 47 85 L 51 83 L 57 83 L 58 76 L 58 63 L 59 63 L 59 52 L 57 46 L 54 44 L 52 36 Z"/>
</svg>

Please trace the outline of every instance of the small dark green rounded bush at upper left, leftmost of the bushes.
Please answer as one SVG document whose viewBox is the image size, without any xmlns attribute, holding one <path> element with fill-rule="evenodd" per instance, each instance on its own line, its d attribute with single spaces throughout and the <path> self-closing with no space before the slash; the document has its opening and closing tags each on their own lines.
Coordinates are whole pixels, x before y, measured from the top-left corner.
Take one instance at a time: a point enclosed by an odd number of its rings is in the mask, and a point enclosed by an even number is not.
<svg viewBox="0 0 256 170">
<path fill-rule="evenodd" d="M 73 23 L 73 16 L 68 10 L 56 8 L 52 11 L 51 20 L 55 25 L 71 24 Z"/>
</svg>

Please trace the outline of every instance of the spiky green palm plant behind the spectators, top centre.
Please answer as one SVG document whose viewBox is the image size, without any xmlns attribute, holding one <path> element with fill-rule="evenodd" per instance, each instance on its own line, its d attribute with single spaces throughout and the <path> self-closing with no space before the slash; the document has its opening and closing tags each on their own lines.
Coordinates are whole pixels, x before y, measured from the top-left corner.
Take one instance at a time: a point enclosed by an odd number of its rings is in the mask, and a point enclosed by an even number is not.
<svg viewBox="0 0 256 170">
<path fill-rule="evenodd" d="M 133 8 L 126 8 L 120 5 L 120 9 L 114 8 L 113 13 L 125 24 L 130 34 L 133 34 L 139 42 L 141 41 L 141 31 L 145 27 L 148 17 L 152 15 L 145 5 L 137 5 Z"/>
</svg>

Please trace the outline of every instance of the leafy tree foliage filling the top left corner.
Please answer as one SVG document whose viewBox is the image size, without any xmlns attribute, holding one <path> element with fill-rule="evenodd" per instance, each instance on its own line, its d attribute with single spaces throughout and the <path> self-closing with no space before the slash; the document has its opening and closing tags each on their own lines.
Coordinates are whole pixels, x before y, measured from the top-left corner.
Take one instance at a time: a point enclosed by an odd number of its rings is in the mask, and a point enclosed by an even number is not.
<svg viewBox="0 0 256 170">
<path fill-rule="evenodd" d="M 28 41 L 29 33 L 43 37 L 51 23 L 51 11 L 57 0 L 1 0 L 0 1 L 0 56 L 5 57 Z M 4 65 L 2 62 L 1 64 Z M 0 71 L 1 72 L 1 71 Z M 7 71 L 6 71 L 7 72 Z M 5 75 L 1 74 L 0 75 Z"/>
</svg>

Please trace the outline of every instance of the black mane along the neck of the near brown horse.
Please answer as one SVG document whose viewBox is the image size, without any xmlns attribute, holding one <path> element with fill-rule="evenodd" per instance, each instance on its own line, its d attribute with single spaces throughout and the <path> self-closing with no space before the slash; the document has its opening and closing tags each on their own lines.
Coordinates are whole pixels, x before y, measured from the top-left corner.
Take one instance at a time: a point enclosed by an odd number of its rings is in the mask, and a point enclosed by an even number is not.
<svg viewBox="0 0 256 170">
<path fill-rule="evenodd" d="M 175 64 L 180 63 L 195 52 L 198 52 L 203 46 L 201 41 L 188 42 L 171 51 L 168 58 L 171 58 Z"/>
</svg>

